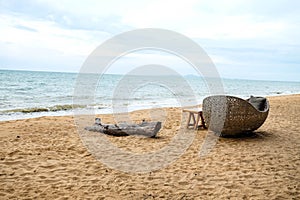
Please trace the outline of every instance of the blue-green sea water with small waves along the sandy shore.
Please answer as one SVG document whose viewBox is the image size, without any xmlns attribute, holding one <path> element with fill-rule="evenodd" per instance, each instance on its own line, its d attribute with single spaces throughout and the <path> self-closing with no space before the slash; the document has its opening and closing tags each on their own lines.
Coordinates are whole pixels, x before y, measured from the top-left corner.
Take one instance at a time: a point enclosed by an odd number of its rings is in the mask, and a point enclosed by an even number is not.
<svg viewBox="0 0 300 200">
<path fill-rule="evenodd" d="M 182 106 L 180 100 L 189 102 L 190 99 L 197 101 L 191 101 L 191 105 L 199 104 L 206 96 L 212 94 L 213 91 L 209 86 L 214 84 L 213 80 L 205 81 L 198 76 L 184 76 L 186 84 L 167 76 L 124 77 L 109 74 L 101 77 L 85 76 L 98 80 L 93 96 L 90 98 L 92 100 L 74 104 L 74 95 L 81 95 L 78 92 L 74 93 L 76 84 L 80 84 L 76 73 L 0 70 L 0 121 L 73 115 L 74 110 L 80 109 L 93 109 L 96 113 L 112 113 L 113 105 L 116 104 L 125 107 L 128 111 L 178 107 Z M 164 84 L 156 84 L 157 81 L 153 79 L 162 79 Z M 235 79 L 221 81 L 224 94 L 241 98 L 250 95 L 274 96 L 300 93 L 300 82 Z M 84 91 L 82 94 L 85 94 Z"/>
</svg>

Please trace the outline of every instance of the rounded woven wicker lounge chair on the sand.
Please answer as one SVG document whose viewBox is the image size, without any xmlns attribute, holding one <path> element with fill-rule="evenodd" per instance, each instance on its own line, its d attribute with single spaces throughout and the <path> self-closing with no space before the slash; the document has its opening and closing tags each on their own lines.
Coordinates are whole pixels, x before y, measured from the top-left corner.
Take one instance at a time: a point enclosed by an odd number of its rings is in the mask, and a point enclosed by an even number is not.
<svg viewBox="0 0 300 200">
<path fill-rule="evenodd" d="M 258 129 L 269 113 L 265 100 L 261 110 L 248 100 L 233 96 L 210 96 L 203 100 L 203 117 L 209 130 L 221 136 L 235 136 Z"/>
</svg>

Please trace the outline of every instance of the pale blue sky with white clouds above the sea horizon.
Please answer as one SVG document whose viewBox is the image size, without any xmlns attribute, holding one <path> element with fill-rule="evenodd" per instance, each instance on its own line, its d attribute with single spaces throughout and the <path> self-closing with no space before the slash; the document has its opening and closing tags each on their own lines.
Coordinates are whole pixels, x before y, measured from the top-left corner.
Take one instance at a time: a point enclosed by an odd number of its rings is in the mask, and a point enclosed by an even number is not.
<svg viewBox="0 0 300 200">
<path fill-rule="evenodd" d="M 300 81 L 296 0 L 0 0 L 0 69 L 79 72 L 103 42 L 141 28 L 192 39 L 224 78 Z M 195 73 L 155 51 L 128 54 L 107 73 L 150 63 Z"/>
</svg>

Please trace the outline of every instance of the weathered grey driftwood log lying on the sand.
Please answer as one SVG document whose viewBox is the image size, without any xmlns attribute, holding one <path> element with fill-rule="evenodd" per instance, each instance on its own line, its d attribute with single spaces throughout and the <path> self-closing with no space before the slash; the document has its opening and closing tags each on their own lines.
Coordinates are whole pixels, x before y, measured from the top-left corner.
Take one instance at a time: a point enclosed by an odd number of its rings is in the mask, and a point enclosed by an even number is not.
<svg viewBox="0 0 300 200">
<path fill-rule="evenodd" d="M 161 128 L 161 122 L 146 122 L 140 124 L 102 124 L 100 118 L 96 118 L 93 126 L 85 127 L 85 130 L 96 131 L 107 135 L 128 136 L 140 135 L 145 137 L 155 137 Z"/>
</svg>

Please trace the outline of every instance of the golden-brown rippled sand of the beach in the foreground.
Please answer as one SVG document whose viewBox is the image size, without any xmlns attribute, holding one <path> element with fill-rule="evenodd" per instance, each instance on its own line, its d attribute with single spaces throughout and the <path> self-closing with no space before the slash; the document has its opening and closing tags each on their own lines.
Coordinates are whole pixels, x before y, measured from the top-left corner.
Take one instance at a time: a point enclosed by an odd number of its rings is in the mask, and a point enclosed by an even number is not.
<svg viewBox="0 0 300 200">
<path fill-rule="evenodd" d="M 269 101 L 269 117 L 256 135 L 220 138 L 199 158 L 208 132 L 198 130 L 176 162 L 139 174 L 95 159 L 72 117 L 0 122 L 0 199 L 300 199 L 300 95 Z M 126 151 L 155 151 L 169 144 L 180 126 L 179 109 L 165 113 L 156 139 L 105 137 Z M 132 117 L 149 119 L 149 111 Z M 110 115 L 101 118 L 113 123 Z"/>
</svg>

